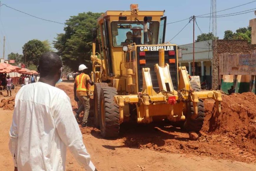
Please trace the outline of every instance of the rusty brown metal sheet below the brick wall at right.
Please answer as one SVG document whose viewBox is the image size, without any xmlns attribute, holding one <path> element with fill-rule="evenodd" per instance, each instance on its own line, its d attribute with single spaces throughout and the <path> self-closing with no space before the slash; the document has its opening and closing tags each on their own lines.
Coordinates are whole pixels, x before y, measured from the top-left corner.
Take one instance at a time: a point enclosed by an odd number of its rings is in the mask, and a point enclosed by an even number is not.
<svg viewBox="0 0 256 171">
<path fill-rule="evenodd" d="M 256 50 L 229 54 L 219 57 L 220 75 L 256 75 Z"/>
</svg>

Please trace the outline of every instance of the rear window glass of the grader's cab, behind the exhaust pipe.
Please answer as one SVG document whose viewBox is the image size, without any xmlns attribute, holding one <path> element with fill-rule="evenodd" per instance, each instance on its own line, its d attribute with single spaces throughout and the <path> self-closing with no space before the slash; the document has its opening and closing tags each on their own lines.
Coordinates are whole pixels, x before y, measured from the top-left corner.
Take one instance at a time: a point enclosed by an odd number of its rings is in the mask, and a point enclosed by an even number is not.
<svg viewBox="0 0 256 171">
<path fill-rule="evenodd" d="M 143 21 L 142 21 L 143 22 Z M 141 27 L 141 42 L 144 43 L 143 36 L 143 25 L 138 22 L 112 22 L 112 42 L 114 47 L 122 47 L 124 45 L 131 44 L 132 41 L 132 28 Z M 162 42 L 158 42 L 158 32 L 159 32 L 159 22 L 158 21 L 150 21 L 147 23 L 148 27 L 148 45 L 157 45 L 162 44 Z"/>
</svg>

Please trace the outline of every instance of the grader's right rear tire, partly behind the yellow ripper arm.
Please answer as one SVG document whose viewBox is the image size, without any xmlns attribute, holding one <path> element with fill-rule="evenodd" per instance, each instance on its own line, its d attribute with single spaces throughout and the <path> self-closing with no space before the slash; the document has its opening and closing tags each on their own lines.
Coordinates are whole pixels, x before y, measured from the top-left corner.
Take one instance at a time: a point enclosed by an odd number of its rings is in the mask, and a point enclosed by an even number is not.
<svg viewBox="0 0 256 171">
<path fill-rule="evenodd" d="M 197 85 L 197 83 L 191 82 L 190 83 L 191 88 L 195 89 L 195 91 L 201 91 L 200 87 Z M 186 121 L 184 123 L 184 129 L 188 132 L 194 131 L 194 132 L 199 132 L 204 124 L 204 116 L 205 116 L 205 105 L 203 100 L 199 100 L 197 103 L 198 107 L 198 116 L 196 119 L 192 119 L 191 116 L 194 114 L 194 108 L 193 108 L 193 103 L 190 102 L 188 103 L 187 106 L 187 115 L 186 115 Z"/>
</svg>

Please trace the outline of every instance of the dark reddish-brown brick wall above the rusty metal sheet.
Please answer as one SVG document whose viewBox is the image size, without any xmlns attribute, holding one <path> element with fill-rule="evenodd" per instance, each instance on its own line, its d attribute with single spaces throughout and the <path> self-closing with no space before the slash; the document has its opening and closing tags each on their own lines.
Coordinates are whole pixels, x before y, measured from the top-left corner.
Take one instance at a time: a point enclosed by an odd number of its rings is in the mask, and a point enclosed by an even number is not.
<svg viewBox="0 0 256 171">
<path fill-rule="evenodd" d="M 218 40 L 218 56 L 222 53 L 241 53 L 256 50 L 256 45 L 248 44 L 245 40 Z"/>
</svg>

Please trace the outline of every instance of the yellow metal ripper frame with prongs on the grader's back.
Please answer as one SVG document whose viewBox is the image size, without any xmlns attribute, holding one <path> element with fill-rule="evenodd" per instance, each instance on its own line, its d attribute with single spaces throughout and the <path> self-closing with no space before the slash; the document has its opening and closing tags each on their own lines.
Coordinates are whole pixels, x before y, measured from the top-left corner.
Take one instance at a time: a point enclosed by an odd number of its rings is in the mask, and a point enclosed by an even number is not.
<svg viewBox="0 0 256 171">
<path fill-rule="evenodd" d="M 164 54 L 162 50 L 159 50 L 159 61 L 162 61 Z M 221 93 L 219 91 L 200 91 L 194 92 L 190 86 L 189 77 L 187 74 L 186 67 L 179 67 L 179 86 L 178 90 L 173 89 L 172 81 L 169 73 L 169 65 L 166 63 L 160 63 L 155 65 L 155 72 L 157 73 L 157 79 L 159 82 L 159 88 L 164 90 L 156 93 L 153 90 L 152 82 L 149 74 L 149 68 L 143 68 L 143 89 L 142 96 L 138 95 L 125 95 L 125 96 L 114 96 L 114 101 L 119 105 L 120 120 L 123 122 L 123 106 L 126 103 L 135 103 L 137 105 L 137 122 L 138 123 L 150 123 L 153 121 L 153 116 L 166 116 L 171 121 L 184 121 L 185 116 L 183 115 L 184 102 L 179 101 L 178 103 L 168 103 L 169 97 L 174 97 L 176 101 L 179 100 L 179 93 L 182 95 L 184 100 L 188 100 L 193 103 L 194 113 L 191 116 L 195 119 L 198 115 L 197 103 L 199 99 L 212 98 L 216 102 L 217 113 L 221 112 L 220 102 L 222 101 Z M 166 71 L 164 73 L 164 71 Z M 169 78 L 168 78 L 169 77 Z M 165 83 L 170 86 L 170 91 L 167 92 Z M 186 91 L 181 91 L 186 90 Z M 191 90 L 191 94 L 189 92 Z M 154 102 L 154 103 L 153 103 Z"/>
</svg>

